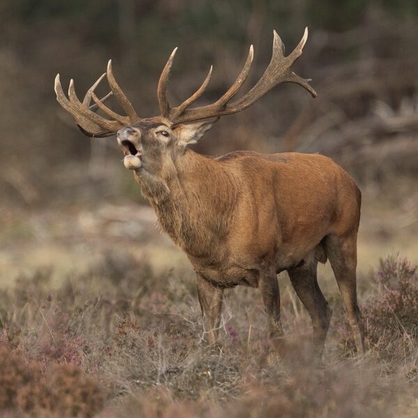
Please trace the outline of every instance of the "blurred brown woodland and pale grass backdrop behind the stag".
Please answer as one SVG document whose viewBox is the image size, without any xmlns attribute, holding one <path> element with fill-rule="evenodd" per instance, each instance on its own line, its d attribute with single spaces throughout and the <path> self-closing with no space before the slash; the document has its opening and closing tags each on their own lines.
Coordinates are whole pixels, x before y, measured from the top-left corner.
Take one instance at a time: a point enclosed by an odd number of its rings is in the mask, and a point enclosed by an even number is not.
<svg viewBox="0 0 418 418">
<path fill-rule="evenodd" d="M 111 58 L 139 116 L 155 116 L 157 81 L 174 47 L 171 102 L 188 97 L 213 63 L 201 99 L 212 102 L 235 80 L 251 43 L 255 60 L 242 91 L 270 61 L 272 30 L 291 52 L 305 26 L 295 72 L 313 79 L 318 98 L 281 85 L 194 147 L 329 155 L 363 192 L 359 269 L 393 250 L 417 261 L 416 0 L 2 0 L 0 16 L 3 283 L 35 265 L 80 268 L 128 243 L 156 265 L 184 261 L 154 228 L 116 139 L 84 137 L 59 107 L 57 72 L 63 86 L 73 77 L 82 96 Z"/>
</svg>

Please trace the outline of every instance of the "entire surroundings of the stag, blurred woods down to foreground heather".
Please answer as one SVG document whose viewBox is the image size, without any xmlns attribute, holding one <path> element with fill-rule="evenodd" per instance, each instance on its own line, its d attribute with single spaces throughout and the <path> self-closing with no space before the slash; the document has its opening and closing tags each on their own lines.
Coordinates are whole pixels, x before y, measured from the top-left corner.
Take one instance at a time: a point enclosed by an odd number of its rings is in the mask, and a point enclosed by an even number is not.
<svg viewBox="0 0 418 418">
<path fill-rule="evenodd" d="M 416 0 L 13 0 L 0 16 L 0 417 L 418 416 Z M 193 149 L 321 153 L 359 185 L 367 350 L 355 353 L 330 265 L 320 265 L 333 310 L 321 362 L 286 273 L 283 339 L 268 339 L 259 292 L 235 288 L 220 344 L 206 346 L 185 254 L 160 233 L 114 137 L 84 137 L 52 88 L 60 72 L 82 98 L 111 58 L 138 114 L 154 116 L 178 46 L 171 103 L 213 63 L 196 102 L 208 104 L 249 45 L 242 92 L 270 62 L 272 30 L 288 54 L 305 26 L 293 68 L 318 98 L 278 86 Z"/>
</svg>

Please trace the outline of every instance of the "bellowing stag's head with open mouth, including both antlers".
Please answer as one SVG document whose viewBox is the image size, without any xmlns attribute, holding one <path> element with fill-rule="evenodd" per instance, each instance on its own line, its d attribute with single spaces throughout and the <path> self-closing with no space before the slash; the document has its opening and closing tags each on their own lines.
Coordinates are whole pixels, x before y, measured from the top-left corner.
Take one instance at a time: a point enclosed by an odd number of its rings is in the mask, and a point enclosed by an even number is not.
<svg viewBox="0 0 418 418">
<path fill-rule="evenodd" d="M 161 176 L 164 167 L 183 155 L 187 146 L 196 143 L 221 116 L 247 109 L 277 84 L 285 82 L 300 84 L 313 97 L 316 97 L 316 92 L 309 85 L 310 80 L 302 79 L 291 71 L 291 66 L 302 54 L 307 37 L 308 29 L 306 28 L 297 47 L 291 54 L 284 56 L 283 42 L 274 31 L 272 59 L 268 68 L 251 90 L 235 100 L 232 99 L 247 79 L 251 69 L 254 56 L 252 45 L 249 48 L 245 65 L 232 86 L 216 102 L 205 106 L 190 108 L 206 90 L 212 74 L 212 66 L 201 86 L 183 103 L 177 107 L 171 107 L 167 99 L 167 81 L 177 48 L 171 53 L 158 83 L 159 116 L 139 118 L 116 82 L 111 61 L 107 65 L 107 72 L 88 89 L 82 102 L 77 98 L 72 80 L 68 89 L 68 98 L 65 97 L 59 75 L 57 75 L 55 79 L 56 98 L 59 104 L 72 114 L 80 130 L 89 137 L 108 137 L 117 132 L 118 144 L 125 154 L 125 167 L 133 169 L 137 173 L 146 171 L 153 176 Z M 107 77 L 111 92 L 99 100 L 94 92 L 104 76 Z M 104 104 L 110 95 L 116 97 L 125 111 L 125 115 L 116 114 Z M 94 102 L 93 105 L 91 105 L 91 100 Z M 99 109 L 110 119 L 99 116 L 96 113 Z"/>
</svg>

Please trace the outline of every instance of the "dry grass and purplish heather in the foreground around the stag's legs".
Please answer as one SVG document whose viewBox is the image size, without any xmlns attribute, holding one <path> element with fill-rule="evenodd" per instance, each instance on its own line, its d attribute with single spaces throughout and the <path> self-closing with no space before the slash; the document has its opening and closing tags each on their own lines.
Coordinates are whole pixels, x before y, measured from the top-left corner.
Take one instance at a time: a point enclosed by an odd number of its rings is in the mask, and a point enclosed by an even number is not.
<svg viewBox="0 0 418 418">
<path fill-rule="evenodd" d="M 227 292 L 219 350 L 201 341 L 191 273 L 156 274 L 122 254 L 105 259 L 55 290 L 51 270 L 40 270 L 1 291 L 4 414 L 414 416 L 417 276 L 401 258 L 382 261 L 369 283 L 374 296 L 361 297 L 364 357 L 353 357 L 341 301 L 325 289 L 334 318 L 320 366 L 311 358 L 309 318 L 286 277 L 288 337 L 279 346 L 266 339 L 261 298 L 241 288 Z"/>
</svg>

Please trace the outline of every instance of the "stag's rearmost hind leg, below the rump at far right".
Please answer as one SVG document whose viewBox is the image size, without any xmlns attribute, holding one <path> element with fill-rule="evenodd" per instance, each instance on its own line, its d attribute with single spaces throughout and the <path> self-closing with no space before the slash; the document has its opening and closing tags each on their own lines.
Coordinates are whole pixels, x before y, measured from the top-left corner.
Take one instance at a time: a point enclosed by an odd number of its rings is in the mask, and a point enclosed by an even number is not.
<svg viewBox="0 0 418 418">
<path fill-rule="evenodd" d="M 325 240 L 327 256 L 334 271 L 343 302 L 346 305 L 348 322 L 357 353 L 364 353 L 364 330 L 362 314 L 357 304 L 357 233 L 338 236 L 328 235 Z"/>
</svg>

